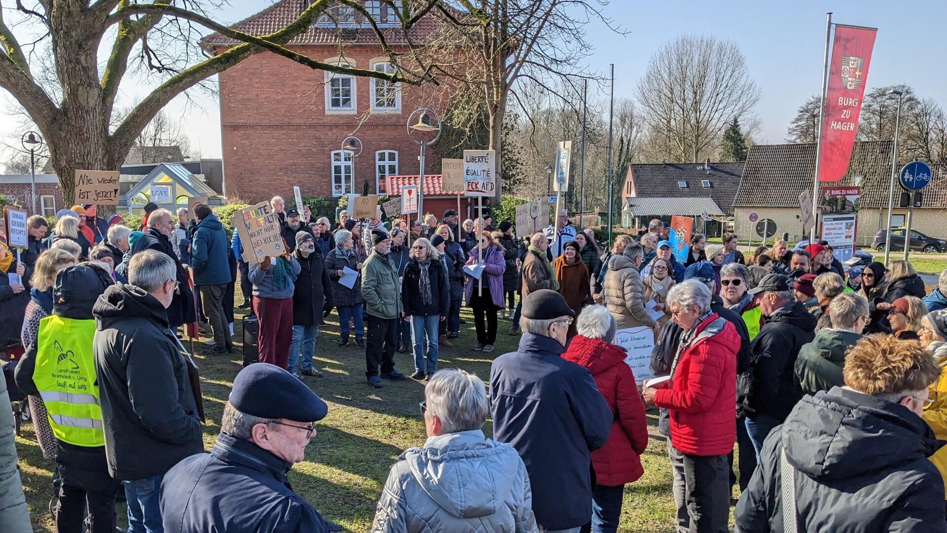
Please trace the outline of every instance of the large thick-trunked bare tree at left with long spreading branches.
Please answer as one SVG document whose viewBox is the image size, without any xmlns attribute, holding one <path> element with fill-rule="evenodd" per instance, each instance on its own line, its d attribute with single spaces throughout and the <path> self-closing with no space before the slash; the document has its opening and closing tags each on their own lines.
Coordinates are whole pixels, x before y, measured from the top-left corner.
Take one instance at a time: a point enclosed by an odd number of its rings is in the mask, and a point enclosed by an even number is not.
<svg viewBox="0 0 947 533">
<path fill-rule="evenodd" d="M 288 0 L 282 0 L 288 1 Z M 0 2 L 12 4 L 10 0 Z M 356 0 L 303 2 L 296 19 L 268 35 L 250 35 L 213 19 L 223 0 L 38 0 L 33 8 L 16 0 L 0 5 L 0 88 L 9 91 L 36 124 L 49 145 L 66 203 L 72 203 L 76 169 L 115 170 L 155 114 L 175 96 L 205 80 L 268 51 L 312 68 L 388 82 L 432 81 L 433 65 L 413 53 L 411 28 L 430 14 L 439 0 L 383 0 L 398 17 L 396 29 L 379 28 Z M 173 3 L 173 5 L 172 5 Z M 340 10 L 345 8 L 345 10 Z M 39 38 L 24 45 L 4 20 L 5 10 L 32 24 Z M 284 45 L 319 17 L 357 13 L 366 20 L 389 57 L 395 73 L 313 60 Z M 199 46 L 206 31 L 237 42 L 206 57 Z M 343 40 L 340 30 L 339 40 Z M 111 41 L 111 46 L 99 46 Z M 398 41 L 398 46 L 388 43 Z M 40 51 L 32 53 L 29 46 Z M 44 48 L 47 52 L 44 54 Z M 99 70 L 98 57 L 107 57 Z M 44 57 L 45 56 L 45 57 Z M 131 70 L 130 70 L 131 68 Z M 119 83 L 133 72 L 155 87 L 112 129 Z"/>
</svg>

